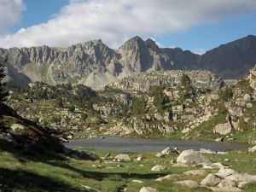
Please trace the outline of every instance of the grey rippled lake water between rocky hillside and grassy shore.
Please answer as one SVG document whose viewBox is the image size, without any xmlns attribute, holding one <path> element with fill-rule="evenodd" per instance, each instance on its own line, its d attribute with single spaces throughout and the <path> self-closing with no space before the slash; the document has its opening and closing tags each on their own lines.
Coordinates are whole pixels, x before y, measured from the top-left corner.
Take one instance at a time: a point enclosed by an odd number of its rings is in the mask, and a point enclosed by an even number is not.
<svg viewBox="0 0 256 192">
<path fill-rule="evenodd" d="M 68 148 L 90 148 L 108 151 L 126 152 L 157 152 L 164 148 L 178 148 L 179 150 L 200 148 L 224 151 L 226 149 L 246 149 L 249 144 L 244 143 L 217 143 L 194 140 L 170 140 L 165 138 L 137 138 L 137 137 L 105 137 L 91 139 L 74 139 L 65 143 Z"/>
</svg>

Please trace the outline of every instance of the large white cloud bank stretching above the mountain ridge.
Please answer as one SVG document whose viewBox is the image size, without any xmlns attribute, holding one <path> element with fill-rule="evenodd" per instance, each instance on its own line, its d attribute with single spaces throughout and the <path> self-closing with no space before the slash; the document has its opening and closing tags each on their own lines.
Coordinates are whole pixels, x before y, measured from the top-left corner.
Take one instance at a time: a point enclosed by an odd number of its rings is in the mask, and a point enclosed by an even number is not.
<svg viewBox="0 0 256 192">
<path fill-rule="evenodd" d="M 255 0 L 70 0 L 48 22 L 2 36 L 0 47 L 68 46 L 96 38 L 117 47 L 135 35 L 177 32 L 254 10 Z"/>
</svg>

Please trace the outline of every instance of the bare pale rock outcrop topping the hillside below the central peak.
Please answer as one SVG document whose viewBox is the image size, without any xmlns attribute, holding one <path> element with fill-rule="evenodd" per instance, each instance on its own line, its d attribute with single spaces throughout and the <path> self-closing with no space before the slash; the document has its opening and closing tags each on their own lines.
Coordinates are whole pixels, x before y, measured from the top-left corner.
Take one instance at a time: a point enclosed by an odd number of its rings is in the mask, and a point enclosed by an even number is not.
<svg viewBox="0 0 256 192">
<path fill-rule="evenodd" d="M 181 83 L 183 74 L 191 79 L 191 86 L 195 89 L 220 90 L 225 86 L 224 80 L 209 71 L 164 71 L 148 72 L 132 75 L 128 78 L 119 80 L 119 82 L 109 86 L 119 90 L 141 90 L 147 92 L 152 86 L 168 84 L 168 86 L 177 86 Z"/>
</svg>

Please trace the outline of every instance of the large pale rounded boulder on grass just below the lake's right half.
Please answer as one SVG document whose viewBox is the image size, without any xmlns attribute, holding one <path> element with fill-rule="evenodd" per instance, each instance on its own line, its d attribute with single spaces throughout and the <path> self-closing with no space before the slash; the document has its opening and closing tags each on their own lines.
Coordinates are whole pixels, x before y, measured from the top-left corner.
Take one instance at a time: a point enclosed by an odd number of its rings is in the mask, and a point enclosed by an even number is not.
<svg viewBox="0 0 256 192">
<path fill-rule="evenodd" d="M 177 157 L 177 163 L 209 163 L 208 160 L 203 154 L 199 151 L 184 150 L 179 156 Z"/>
</svg>

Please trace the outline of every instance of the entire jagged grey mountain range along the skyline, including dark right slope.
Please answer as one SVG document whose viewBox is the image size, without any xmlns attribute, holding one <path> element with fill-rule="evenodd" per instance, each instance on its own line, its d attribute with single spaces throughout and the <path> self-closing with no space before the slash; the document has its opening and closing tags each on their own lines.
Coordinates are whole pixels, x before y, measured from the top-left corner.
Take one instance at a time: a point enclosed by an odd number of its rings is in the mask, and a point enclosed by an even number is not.
<svg viewBox="0 0 256 192">
<path fill-rule="evenodd" d="M 43 81 L 47 84 L 86 84 L 101 89 L 131 74 L 207 69 L 224 79 L 247 73 L 256 62 L 256 37 L 247 36 L 196 55 L 179 48 L 160 48 L 152 39 L 129 39 L 119 49 L 110 49 L 102 40 L 74 44 L 68 48 L 39 46 L 0 49 L 9 55 L 8 78 L 20 84 Z"/>
</svg>

